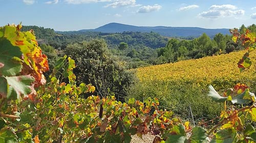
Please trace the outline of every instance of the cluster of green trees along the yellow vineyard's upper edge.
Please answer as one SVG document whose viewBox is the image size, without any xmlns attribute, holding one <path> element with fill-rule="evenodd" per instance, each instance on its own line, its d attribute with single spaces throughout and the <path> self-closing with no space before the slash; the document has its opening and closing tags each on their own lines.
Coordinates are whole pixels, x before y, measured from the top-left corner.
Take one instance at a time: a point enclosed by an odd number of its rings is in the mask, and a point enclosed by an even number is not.
<svg viewBox="0 0 256 143">
<path fill-rule="evenodd" d="M 193 40 L 170 39 L 165 47 L 157 49 L 158 57 L 163 62 L 176 62 L 185 59 L 198 59 L 220 53 L 229 53 L 233 49 L 226 49 L 231 44 L 231 37 L 221 33 L 210 39 L 205 33 Z M 233 44 L 232 44 L 233 45 Z M 236 47 L 237 48 L 237 47 Z"/>
</svg>

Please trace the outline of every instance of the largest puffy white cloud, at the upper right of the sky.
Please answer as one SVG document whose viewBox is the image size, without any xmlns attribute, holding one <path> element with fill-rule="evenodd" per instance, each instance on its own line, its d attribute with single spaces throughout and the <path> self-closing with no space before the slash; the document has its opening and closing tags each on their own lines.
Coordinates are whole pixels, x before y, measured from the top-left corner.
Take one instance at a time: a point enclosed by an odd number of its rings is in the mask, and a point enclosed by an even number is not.
<svg viewBox="0 0 256 143">
<path fill-rule="evenodd" d="M 219 18 L 227 16 L 240 16 L 244 15 L 245 13 L 244 10 L 237 10 L 237 7 L 233 5 L 212 5 L 209 9 L 209 11 L 201 12 L 198 16 L 202 18 Z"/>
</svg>

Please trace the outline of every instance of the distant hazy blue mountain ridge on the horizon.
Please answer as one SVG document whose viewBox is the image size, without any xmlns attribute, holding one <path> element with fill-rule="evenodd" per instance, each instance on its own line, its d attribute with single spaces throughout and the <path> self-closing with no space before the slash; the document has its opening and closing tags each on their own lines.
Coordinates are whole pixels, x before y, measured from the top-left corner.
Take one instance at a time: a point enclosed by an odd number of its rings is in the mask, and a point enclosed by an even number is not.
<svg viewBox="0 0 256 143">
<path fill-rule="evenodd" d="M 229 29 L 204 29 L 198 27 L 138 27 L 124 25 L 121 23 L 109 23 L 96 29 L 79 30 L 80 32 L 93 31 L 102 33 L 121 33 L 121 32 L 156 32 L 167 37 L 199 37 L 206 33 L 209 37 L 214 37 L 218 33 L 229 34 Z"/>
</svg>

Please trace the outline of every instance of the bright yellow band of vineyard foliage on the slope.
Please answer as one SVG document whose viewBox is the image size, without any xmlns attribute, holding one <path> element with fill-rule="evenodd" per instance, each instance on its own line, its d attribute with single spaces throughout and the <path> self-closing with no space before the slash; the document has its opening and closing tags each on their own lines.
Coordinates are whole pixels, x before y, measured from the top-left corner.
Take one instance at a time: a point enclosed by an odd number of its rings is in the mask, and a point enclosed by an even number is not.
<svg viewBox="0 0 256 143">
<path fill-rule="evenodd" d="M 176 63 L 147 66 L 137 69 L 137 76 L 141 83 L 156 81 L 172 81 L 193 83 L 206 86 L 214 84 L 212 81 L 238 81 L 246 82 L 255 77 L 255 68 L 240 73 L 237 66 L 245 51 L 229 54 L 191 59 Z M 256 56 L 250 53 L 251 59 Z M 253 71 L 254 70 L 254 71 Z"/>
</svg>

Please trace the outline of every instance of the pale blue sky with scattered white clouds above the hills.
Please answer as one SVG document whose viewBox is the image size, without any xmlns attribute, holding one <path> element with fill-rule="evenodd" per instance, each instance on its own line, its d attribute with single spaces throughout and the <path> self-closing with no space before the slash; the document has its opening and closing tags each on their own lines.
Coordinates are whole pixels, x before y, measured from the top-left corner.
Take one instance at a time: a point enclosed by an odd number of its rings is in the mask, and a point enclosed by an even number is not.
<svg viewBox="0 0 256 143">
<path fill-rule="evenodd" d="M 110 22 L 135 26 L 239 28 L 256 23 L 255 0 L 0 0 L 0 26 L 36 25 L 57 31 Z"/>
</svg>

